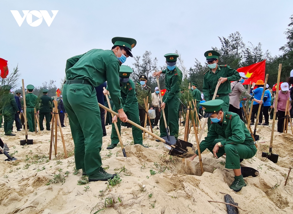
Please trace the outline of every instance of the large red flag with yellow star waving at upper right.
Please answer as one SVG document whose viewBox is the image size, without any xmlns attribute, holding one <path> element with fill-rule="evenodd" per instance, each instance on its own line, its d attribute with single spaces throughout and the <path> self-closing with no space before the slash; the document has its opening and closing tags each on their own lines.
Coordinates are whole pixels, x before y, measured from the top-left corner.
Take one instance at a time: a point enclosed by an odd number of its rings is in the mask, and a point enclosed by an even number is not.
<svg viewBox="0 0 293 214">
<path fill-rule="evenodd" d="M 251 84 L 253 82 L 260 80 L 265 81 L 265 60 L 248 65 L 246 67 L 242 67 L 237 69 L 238 72 L 243 72 L 248 79 L 246 79 L 243 85 L 249 85 L 250 81 Z"/>
</svg>

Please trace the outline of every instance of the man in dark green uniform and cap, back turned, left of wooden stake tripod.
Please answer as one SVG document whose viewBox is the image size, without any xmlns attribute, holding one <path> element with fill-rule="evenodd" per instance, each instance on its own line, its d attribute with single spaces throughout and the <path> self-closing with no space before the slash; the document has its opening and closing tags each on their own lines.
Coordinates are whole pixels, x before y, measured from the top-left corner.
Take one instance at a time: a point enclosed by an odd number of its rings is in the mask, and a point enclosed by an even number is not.
<svg viewBox="0 0 293 214">
<path fill-rule="evenodd" d="M 43 89 L 43 95 L 40 97 L 40 130 L 44 130 L 43 120 L 46 118 L 46 130 L 50 131 L 50 118 L 53 111 L 52 97 L 48 96 L 48 89 Z"/>
</svg>

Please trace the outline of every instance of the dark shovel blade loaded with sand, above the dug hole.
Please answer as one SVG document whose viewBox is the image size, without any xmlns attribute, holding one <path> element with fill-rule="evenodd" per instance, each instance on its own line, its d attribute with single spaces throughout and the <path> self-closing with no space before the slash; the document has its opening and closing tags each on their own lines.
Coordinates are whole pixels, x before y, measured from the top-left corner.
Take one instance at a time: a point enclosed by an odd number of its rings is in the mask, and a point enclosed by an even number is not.
<svg viewBox="0 0 293 214">
<path fill-rule="evenodd" d="M 174 146 L 176 148 L 171 147 L 169 155 L 180 158 L 189 158 L 195 154 L 195 148 L 190 142 L 178 139 Z"/>
</svg>

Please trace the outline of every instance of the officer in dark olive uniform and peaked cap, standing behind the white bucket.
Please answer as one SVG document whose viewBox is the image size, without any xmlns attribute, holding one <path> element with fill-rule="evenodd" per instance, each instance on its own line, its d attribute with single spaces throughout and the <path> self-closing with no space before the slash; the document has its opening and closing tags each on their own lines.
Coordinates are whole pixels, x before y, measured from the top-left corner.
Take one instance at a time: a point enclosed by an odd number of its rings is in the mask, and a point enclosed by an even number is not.
<svg viewBox="0 0 293 214">
<path fill-rule="evenodd" d="M 147 86 L 147 75 L 145 75 L 145 74 L 142 74 L 139 76 L 139 83 L 137 83 L 135 85 L 135 92 L 136 92 L 137 96 L 140 96 L 140 93 L 142 91 L 145 91 L 148 93 L 148 95 L 149 95 L 148 102 L 151 105 L 151 88 L 149 86 Z M 145 110 L 145 107 L 140 106 L 140 105 L 138 105 L 138 108 L 139 108 L 140 125 L 142 127 L 144 127 L 144 119 L 145 119 L 146 110 Z M 153 108 L 150 108 L 150 109 L 153 109 Z"/>
</svg>

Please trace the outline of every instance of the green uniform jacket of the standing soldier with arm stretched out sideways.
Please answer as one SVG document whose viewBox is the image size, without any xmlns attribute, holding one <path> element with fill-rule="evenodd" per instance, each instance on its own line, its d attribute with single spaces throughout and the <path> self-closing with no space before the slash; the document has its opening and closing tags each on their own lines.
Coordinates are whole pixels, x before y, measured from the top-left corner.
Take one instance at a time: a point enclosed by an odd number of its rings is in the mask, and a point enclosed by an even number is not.
<svg viewBox="0 0 293 214">
<path fill-rule="evenodd" d="M 174 98 L 176 93 L 180 92 L 180 86 L 182 82 L 182 72 L 176 66 L 173 71 L 169 71 L 169 69 L 167 68 L 163 70 L 162 73 L 166 74 L 165 85 L 166 85 L 167 91 L 169 91 L 168 93 L 164 95 L 166 96 L 164 103 L 168 103 L 168 101 Z"/>
</svg>

